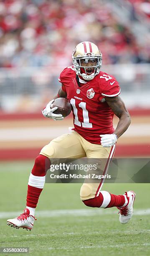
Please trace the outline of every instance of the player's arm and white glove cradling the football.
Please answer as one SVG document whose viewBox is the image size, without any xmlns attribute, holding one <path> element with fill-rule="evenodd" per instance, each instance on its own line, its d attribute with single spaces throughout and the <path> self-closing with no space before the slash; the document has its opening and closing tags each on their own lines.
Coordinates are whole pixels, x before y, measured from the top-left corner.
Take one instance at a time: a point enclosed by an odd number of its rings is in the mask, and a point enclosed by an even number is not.
<svg viewBox="0 0 150 256">
<path fill-rule="evenodd" d="M 62 87 L 63 87 L 63 84 L 62 84 Z M 54 102 L 54 100 L 57 99 L 57 98 L 59 98 L 59 97 L 62 97 L 62 98 L 66 98 L 66 97 L 67 97 L 66 92 L 64 92 L 64 91 L 62 90 L 62 88 L 60 88 L 60 89 L 58 90 L 57 96 L 55 96 L 55 97 L 53 98 L 53 100 L 51 100 L 50 102 L 48 102 L 48 104 L 46 105 L 46 108 L 43 108 L 43 110 L 42 110 L 43 116 L 45 116 L 45 117 L 47 117 L 47 118 L 51 118 L 51 119 L 53 119 L 53 120 L 55 120 L 55 121 L 56 121 L 56 120 L 63 120 L 63 119 L 64 119 L 64 117 L 63 117 L 61 114 L 55 114 L 55 113 L 53 113 L 53 112 L 57 109 L 57 107 L 51 108 L 51 105 L 52 105 L 52 103 Z"/>
</svg>

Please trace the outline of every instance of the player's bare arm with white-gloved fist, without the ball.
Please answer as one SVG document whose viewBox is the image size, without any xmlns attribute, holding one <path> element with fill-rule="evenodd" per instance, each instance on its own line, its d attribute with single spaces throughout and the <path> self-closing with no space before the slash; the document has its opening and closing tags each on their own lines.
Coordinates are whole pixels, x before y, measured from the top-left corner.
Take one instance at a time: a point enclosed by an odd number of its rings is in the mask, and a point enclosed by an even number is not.
<svg viewBox="0 0 150 256">
<path fill-rule="evenodd" d="M 102 146 L 108 147 L 113 146 L 114 143 L 116 143 L 117 138 L 119 138 L 123 133 L 125 133 L 125 131 L 131 123 L 131 118 L 129 112 L 127 111 L 127 108 L 125 107 L 125 103 L 119 96 L 105 97 L 105 100 L 114 112 L 114 114 L 117 115 L 117 117 L 119 118 L 119 122 L 114 133 L 110 134 L 109 136 L 107 136 L 107 134 L 101 136 Z"/>
</svg>

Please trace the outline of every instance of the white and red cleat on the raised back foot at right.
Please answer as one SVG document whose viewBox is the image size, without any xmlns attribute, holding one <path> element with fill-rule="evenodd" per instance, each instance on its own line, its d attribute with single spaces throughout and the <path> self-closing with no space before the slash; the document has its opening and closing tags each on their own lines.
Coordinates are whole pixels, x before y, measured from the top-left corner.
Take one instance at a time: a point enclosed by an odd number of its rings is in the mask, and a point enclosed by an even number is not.
<svg viewBox="0 0 150 256">
<path fill-rule="evenodd" d="M 133 203 L 135 201 L 135 192 L 128 191 L 124 195 L 127 197 L 127 205 L 123 208 L 117 207 L 119 209 L 119 221 L 121 224 L 126 224 L 132 218 Z"/>
</svg>

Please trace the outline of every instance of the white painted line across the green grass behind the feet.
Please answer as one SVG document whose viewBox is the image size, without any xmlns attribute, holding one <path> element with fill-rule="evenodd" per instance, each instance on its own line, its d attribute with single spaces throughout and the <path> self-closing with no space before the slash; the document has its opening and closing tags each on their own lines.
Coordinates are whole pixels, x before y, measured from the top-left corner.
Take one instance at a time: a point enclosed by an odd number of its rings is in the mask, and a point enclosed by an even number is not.
<svg viewBox="0 0 150 256">
<path fill-rule="evenodd" d="M 15 218 L 20 212 L 0 212 L 0 219 Z M 117 214 L 117 209 L 75 209 L 75 210 L 43 210 L 36 211 L 36 217 L 66 217 L 66 216 L 94 216 Z M 150 208 L 134 210 L 134 215 L 150 215 Z"/>
</svg>

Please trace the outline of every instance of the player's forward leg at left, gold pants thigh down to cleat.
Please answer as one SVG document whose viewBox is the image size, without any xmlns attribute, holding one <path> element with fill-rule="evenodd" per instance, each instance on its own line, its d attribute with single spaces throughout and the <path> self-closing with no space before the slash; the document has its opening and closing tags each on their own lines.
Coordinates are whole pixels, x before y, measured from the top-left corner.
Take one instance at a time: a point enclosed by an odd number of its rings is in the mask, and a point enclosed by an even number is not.
<svg viewBox="0 0 150 256">
<path fill-rule="evenodd" d="M 9 219 L 8 225 L 15 228 L 32 229 L 34 223 L 34 212 L 38 199 L 43 190 L 45 176 L 50 169 L 50 159 L 59 158 L 81 158 L 85 156 L 84 149 L 75 132 L 64 134 L 53 139 L 44 146 L 40 155 L 36 158 L 28 181 L 27 206 L 24 213 L 17 218 Z"/>
</svg>

